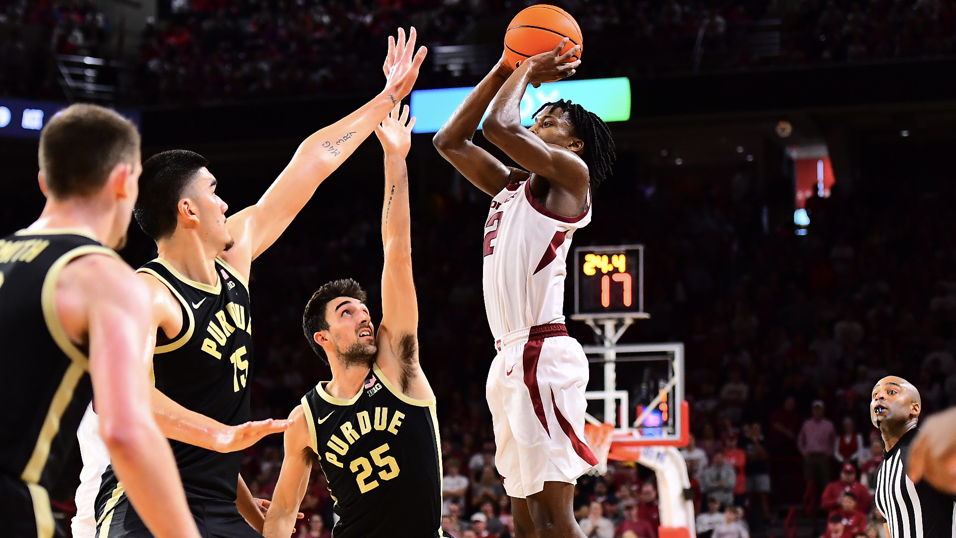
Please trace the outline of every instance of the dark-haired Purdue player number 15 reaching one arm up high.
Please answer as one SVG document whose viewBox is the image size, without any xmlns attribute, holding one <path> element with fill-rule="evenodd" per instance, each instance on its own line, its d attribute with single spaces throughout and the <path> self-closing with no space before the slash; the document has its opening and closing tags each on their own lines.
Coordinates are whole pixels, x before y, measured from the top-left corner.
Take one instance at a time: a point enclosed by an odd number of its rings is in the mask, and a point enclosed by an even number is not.
<svg viewBox="0 0 956 538">
<path fill-rule="evenodd" d="M 414 28 L 407 40 L 403 30 L 398 39 L 390 36 L 380 94 L 302 142 L 258 203 L 228 218 L 228 206 L 216 194 L 217 179 L 202 156 L 165 151 L 143 164 L 134 213 L 143 232 L 156 241 L 159 258 L 139 273 L 150 290 L 157 331 L 155 386 L 172 401 L 154 412 L 173 414 L 172 423 L 183 424 L 177 435 L 189 437 L 171 444 L 190 508 L 209 538 L 254 538 L 261 536 L 265 523 L 260 505 L 239 476 L 241 454 L 219 452 L 209 446 L 214 439 L 202 435 L 204 428 L 215 431 L 217 423 L 236 425 L 250 419 L 251 262 L 411 92 L 426 52 L 423 47 L 416 54 L 415 40 Z M 288 423 L 281 421 L 280 426 L 284 429 Z M 92 510 L 98 536 L 150 536 L 112 468 L 107 467 L 101 479 L 91 475 L 87 482 L 98 482 Z"/>
</svg>

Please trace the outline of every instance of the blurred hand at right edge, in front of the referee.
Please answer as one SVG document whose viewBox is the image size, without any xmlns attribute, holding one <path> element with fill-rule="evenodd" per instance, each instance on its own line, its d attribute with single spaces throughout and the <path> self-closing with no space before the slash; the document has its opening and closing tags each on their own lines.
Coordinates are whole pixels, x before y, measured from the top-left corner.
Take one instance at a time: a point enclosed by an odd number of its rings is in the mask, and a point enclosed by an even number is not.
<svg viewBox="0 0 956 538">
<path fill-rule="evenodd" d="M 923 480 L 940 491 L 956 493 L 956 409 L 930 416 L 920 425 L 906 474 L 913 482 Z"/>
</svg>

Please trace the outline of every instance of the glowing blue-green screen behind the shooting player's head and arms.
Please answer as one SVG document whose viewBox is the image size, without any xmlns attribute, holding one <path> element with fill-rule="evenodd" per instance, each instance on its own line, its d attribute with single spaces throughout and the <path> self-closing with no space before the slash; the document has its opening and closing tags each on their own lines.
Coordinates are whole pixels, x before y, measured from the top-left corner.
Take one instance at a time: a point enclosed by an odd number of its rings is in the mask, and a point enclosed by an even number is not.
<svg viewBox="0 0 956 538">
<path fill-rule="evenodd" d="M 474 89 L 438 88 L 415 90 L 411 97 L 411 113 L 416 123 L 412 132 L 434 133 L 442 128 L 458 105 Z M 631 118 L 631 82 L 626 77 L 561 80 L 528 86 L 521 100 L 521 123 L 531 125 L 532 114 L 546 102 L 561 99 L 574 101 L 597 114 L 605 122 L 626 122 Z M 488 112 L 485 113 L 488 116 Z M 482 119 L 484 121 L 484 118 Z M 481 128 L 481 125 L 478 125 Z"/>
</svg>

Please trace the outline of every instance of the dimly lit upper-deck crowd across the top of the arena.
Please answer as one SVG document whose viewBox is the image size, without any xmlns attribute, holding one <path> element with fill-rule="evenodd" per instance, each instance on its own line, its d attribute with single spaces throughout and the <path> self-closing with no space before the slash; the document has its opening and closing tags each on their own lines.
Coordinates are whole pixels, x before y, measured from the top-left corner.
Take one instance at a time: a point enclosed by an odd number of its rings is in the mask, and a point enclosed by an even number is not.
<svg viewBox="0 0 956 538">
<path fill-rule="evenodd" d="M 612 0 L 555 2 L 576 15 L 587 53 L 579 77 L 857 62 L 953 54 L 953 0 Z M 369 91 L 380 85 L 385 38 L 416 26 L 430 46 L 478 44 L 488 64 L 454 76 L 426 63 L 420 86 L 484 75 L 511 16 L 501 0 L 176 0 L 160 2 L 141 35 L 141 103 L 274 99 Z M 54 89 L 49 52 L 110 55 L 108 18 L 91 0 L 0 0 L 0 71 L 33 72 L 26 86 Z M 25 35 L 33 37 L 25 39 Z M 30 54 L 15 54 L 29 48 Z M 479 62 L 480 63 L 480 62 Z M 28 65 L 29 64 L 29 65 Z"/>
</svg>

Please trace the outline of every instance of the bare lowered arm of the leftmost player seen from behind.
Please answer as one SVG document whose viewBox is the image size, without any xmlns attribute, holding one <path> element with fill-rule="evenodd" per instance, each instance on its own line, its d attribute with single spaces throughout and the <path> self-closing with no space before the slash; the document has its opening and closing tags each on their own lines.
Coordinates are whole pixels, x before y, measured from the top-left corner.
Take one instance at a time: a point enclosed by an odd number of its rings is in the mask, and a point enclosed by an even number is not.
<svg viewBox="0 0 956 538">
<path fill-rule="evenodd" d="M 172 450 L 149 406 L 153 333 L 148 330 L 146 287 L 120 260 L 86 257 L 71 265 L 76 265 L 78 273 L 71 273 L 87 305 L 79 316 L 88 324 L 99 433 L 117 476 L 157 538 L 199 538 Z M 65 308 L 64 316 L 57 298 L 57 309 L 61 318 L 71 317 L 70 310 L 76 318 L 76 303 Z"/>
</svg>

